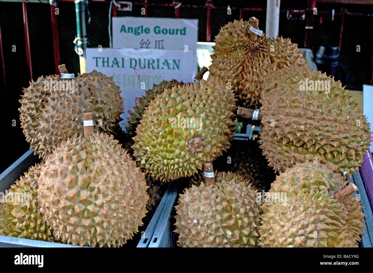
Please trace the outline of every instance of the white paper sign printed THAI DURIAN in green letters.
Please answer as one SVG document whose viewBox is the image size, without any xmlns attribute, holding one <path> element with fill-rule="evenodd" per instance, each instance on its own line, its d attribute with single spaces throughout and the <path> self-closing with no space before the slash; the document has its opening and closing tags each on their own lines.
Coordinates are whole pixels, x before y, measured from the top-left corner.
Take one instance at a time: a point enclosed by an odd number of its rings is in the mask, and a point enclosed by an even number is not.
<svg viewBox="0 0 373 273">
<path fill-rule="evenodd" d="M 129 113 L 134 110 L 140 97 L 153 87 L 153 83 L 171 79 L 188 83 L 196 74 L 191 51 L 129 48 L 102 48 L 100 51 L 87 48 L 86 69 L 87 72 L 95 69 L 106 76 L 113 76 L 120 87 L 124 114 L 120 115 L 123 121 L 119 124 L 122 128 L 126 126 Z"/>
</svg>

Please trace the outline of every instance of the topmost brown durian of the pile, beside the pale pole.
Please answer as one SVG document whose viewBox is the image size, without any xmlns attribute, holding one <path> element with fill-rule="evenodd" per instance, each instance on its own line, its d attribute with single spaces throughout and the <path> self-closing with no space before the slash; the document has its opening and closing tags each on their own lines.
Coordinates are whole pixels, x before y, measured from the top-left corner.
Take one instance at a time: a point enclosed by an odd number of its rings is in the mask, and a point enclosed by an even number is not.
<svg viewBox="0 0 373 273">
<path fill-rule="evenodd" d="M 209 77 L 231 83 L 238 106 L 256 109 L 260 107 L 264 76 L 291 65 L 306 67 L 307 60 L 290 39 L 270 39 L 263 33 L 251 40 L 250 23 L 257 24 L 257 19 L 234 20 L 220 29 Z"/>
</svg>

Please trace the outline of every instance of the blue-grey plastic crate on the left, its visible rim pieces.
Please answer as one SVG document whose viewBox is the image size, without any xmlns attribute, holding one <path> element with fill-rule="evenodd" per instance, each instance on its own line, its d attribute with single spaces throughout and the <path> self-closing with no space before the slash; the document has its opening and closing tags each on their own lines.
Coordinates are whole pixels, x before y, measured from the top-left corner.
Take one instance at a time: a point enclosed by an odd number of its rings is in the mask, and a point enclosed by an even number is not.
<svg viewBox="0 0 373 273">
<path fill-rule="evenodd" d="M 16 162 L 14 162 L 9 168 L 7 168 L 2 174 L 0 174 L 0 193 L 4 193 L 10 188 L 10 186 L 23 175 L 31 166 L 38 163 L 40 159 L 37 155 L 34 155 L 34 149 L 28 150 L 23 154 Z M 162 201 L 161 201 L 162 204 Z M 161 206 L 162 207 L 162 206 Z M 147 226 L 145 232 L 142 234 L 151 237 L 154 229 L 157 226 L 160 215 L 160 210 L 156 210 L 156 213 L 150 220 L 150 224 Z M 144 237 L 144 236 L 142 236 Z M 141 238 L 141 240 L 143 240 Z M 132 242 L 131 242 L 132 245 Z M 123 245 L 125 247 L 126 245 Z M 31 239 L 23 239 L 16 237 L 8 237 L 0 235 L 0 247 L 80 247 L 68 244 L 61 244 L 55 242 L 37 241 Z"/>
</svg>

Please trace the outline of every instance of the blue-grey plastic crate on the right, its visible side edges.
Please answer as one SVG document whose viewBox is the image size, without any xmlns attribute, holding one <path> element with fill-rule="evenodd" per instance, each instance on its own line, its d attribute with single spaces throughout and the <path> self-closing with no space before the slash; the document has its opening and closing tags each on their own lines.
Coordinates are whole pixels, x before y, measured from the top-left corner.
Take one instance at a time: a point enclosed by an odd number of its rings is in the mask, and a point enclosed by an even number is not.
<svg viewBox="0 0 373 273">
<path fill-rule="evenodd" d="M 364 175 L 367 176 L 365 172 Z M 373 177 L 371 179 L 373 180 Z M 363 229 L 364 235 L 361 237 L 361 247 L 372 247 L 373 215 L 360 173 L 355 172 L 349 181 L 357 186 L 358 191 L 355 194 L 360 194 L 361 205 L 364 207 L 363 213 L 365 214 L 366 227 Z M 164 203 L 164 207 L 148 247 L 176 247 L 177 245 L 171 222 L 173 219 L 173 207 L 179 199 L 179 190 L 182 189 L 179 189 L 175 183 L 171 183 L 169 189 L 171 190 L 168 190 L 162 198 L 161 202 Z"/>
</svg>

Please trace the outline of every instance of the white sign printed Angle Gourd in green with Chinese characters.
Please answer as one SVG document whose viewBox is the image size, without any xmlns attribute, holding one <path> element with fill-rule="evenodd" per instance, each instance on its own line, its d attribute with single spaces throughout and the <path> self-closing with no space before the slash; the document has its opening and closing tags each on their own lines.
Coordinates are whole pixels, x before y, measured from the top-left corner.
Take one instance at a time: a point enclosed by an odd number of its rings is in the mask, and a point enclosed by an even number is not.
<svg viewBox="0 0 373 273">
<path fill-rule="evenodd" d="M 113 48 L 196 52 L 197 19 L 113 17 Z"/>
</svg>

